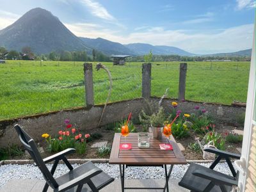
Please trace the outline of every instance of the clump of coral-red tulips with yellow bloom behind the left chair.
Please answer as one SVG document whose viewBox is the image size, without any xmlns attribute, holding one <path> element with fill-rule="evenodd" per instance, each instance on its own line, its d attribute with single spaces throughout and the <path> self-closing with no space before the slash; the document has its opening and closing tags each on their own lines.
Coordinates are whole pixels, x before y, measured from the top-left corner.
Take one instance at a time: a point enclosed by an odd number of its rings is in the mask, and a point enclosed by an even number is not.
<svg viewBox="0 0 256 192">
<path fill-rule="evenodd" d="M 58 136 L 51 138 L 47 133 L 42 134 L 47 142 L 47 149 L 51 152 L 60 152 L 66 148 L 76 148 L 78 154 L 86 152 L 86 140 L 90 138 L 90 134 L 82 134 L 79 130 L 70 124 L 69 120 L 65 120 L 65 129 L 58 131 Z"/>
</svg>

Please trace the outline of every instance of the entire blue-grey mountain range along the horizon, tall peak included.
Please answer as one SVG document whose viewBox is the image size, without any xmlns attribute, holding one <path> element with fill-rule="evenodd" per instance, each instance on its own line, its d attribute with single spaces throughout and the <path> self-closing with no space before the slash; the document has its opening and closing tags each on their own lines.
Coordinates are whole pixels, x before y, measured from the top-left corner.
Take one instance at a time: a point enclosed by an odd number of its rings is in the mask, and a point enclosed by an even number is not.
<svg viewBox="0 0 256 192">
<path fill-rule="evenodd" d="M 97 49 L 107 55 L 131 54 L 145 55 L 152 51 L 156 55 L 177 54 L 180 56 L 200 56 L 177 47 L 150 44 L 127 44 L 111 42 L 104 38 L 77 37 L 66 28 L 58 17 L 42 8 L 34 8 L 25 13 L 13 24 L 0 30 L 0 47 L 21 51 L 22 47 L 31 47 L 36 54 L 51 51 L 87 51 Z M 250 56 L 252 49 L 243 51 L 207 54 L 202 56 Z"/>
</svg>

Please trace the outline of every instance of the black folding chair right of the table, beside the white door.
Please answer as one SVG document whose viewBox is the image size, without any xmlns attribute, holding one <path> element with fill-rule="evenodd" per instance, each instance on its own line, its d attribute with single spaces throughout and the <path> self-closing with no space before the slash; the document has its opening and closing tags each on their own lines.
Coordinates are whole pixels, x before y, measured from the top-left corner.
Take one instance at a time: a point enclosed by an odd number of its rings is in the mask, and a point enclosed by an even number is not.
<svg viewBox="0 0 256 192">
<path fill-rule="evenodd" d="M 230 192 L 232 186 L 237 186 L 239 172 L 234 169 L 230 158 L 240 159 L 240 155 L 218 150 L 216 148 L 205 148 L 207 152 L 212 152 L 218 157 L 209 168 L 200 164 L 191 163 L 184 177 L 179 182 L 179 186 L 196 192 Z M 232 172 L 232 176 L 216 172 L 214 167 L 225 159 Z"/>
</svg>

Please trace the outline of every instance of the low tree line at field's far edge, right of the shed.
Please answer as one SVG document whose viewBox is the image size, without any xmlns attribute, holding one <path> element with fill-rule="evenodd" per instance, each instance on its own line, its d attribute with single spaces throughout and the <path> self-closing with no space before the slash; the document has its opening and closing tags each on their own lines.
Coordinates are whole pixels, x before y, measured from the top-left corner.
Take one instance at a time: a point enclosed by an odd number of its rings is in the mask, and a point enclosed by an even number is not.
<svg viewBox="0 0 256 192">
<path fill-rule="evenodd" d="M 179 56 L 179 55 L 153 55 L 152 61 L 207 61 L 207 60 L 231 60 L 250 61 L 250 56 Z M 129 62 L 144 62 L 144 56 L 127 58 Z"/>
</svg>

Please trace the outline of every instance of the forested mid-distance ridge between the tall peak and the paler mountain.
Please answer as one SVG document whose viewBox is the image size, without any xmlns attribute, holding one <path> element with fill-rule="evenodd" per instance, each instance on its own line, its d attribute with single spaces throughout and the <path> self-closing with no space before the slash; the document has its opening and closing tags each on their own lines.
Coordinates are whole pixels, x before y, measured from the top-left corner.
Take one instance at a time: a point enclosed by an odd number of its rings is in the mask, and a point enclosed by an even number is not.
<svg viewBox="0 0 256 192">
<path fill-rule="evenodd" d="M 111 42 L 104 38 L 85 38 L 80 37 L 84 44 L 88 45 L 92 49 L 97 49 L 98 51 L 104 52 L 105 54 L 131 54 L 136 55 L 136 52 L 131 51 L 127 47 L 117 42 Z"/>
</svg>

